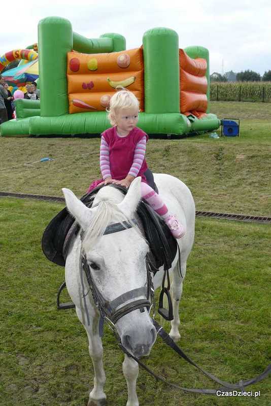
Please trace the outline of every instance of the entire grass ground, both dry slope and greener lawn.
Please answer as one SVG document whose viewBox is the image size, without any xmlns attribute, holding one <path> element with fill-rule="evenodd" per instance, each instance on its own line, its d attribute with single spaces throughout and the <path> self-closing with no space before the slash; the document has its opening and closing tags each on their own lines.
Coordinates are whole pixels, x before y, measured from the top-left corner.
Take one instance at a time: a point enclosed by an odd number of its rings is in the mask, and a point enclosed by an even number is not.
<svg viewBox="0 0 271 406">
<path fill-rule="evenodd" d="M 212 102 L 211 112 L 239 117 L 240 137 L 151 139 L 149 166 L 182 179 L 197 210 L 270 216 L 268 105 Z M 0 190 L 60 196 L 61 187 L 69 187 L 81 196 L 99 178 L 98 149 L 98 139 L 0 138 Z M 24 165 L 45 156 L 58 159 Z M 16 165 L 21 166 L 11 168 Z M 85 406 L 92 387 L 84 329 L 74 310 L 55 307 L 64 270 L 41 250 L 42 233 L 62 208 L 0 199 L 0 406 Z M 220 379 L 247 380 L 270 363 L 270 238 L 269 225 L 196 219 L 179 344 Z M 123 355 L 108 329 L 104 347 L 108 404 L 124 406 Z M 159 339 L 146 364 L 181 386 L 215 387 Z M 257 399 L 190 395 L 156 383 L 141 370 L 137 388 L 141 406 L 269 406 L 270 386 L 270 378 L 252 386 L 260 390 Z"/>
</svg>

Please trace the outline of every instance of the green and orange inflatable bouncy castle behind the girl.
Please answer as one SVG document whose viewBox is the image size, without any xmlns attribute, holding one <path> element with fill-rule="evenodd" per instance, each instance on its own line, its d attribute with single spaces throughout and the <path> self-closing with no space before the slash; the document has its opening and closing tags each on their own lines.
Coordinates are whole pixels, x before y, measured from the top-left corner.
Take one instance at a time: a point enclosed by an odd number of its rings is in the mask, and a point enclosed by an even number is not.
<svg viewBox="0 0 271 406">
<path fill-rule="evenodd" d="M 138 97 L 138 126 L 149 134 L 219 127 L 208 110 L 209 52 L 179 49 L 172 29 L 150 29 L 143 46 L 130 50 L 119 34 L 87 39 L 59 17 L 41 20 L 38 34 L 41 100 L 19 100 L 17 119 L 0 126 L 2 136 L 101 133 L 110 127 L 106 108 L 118 85 Z"/>
</svg>

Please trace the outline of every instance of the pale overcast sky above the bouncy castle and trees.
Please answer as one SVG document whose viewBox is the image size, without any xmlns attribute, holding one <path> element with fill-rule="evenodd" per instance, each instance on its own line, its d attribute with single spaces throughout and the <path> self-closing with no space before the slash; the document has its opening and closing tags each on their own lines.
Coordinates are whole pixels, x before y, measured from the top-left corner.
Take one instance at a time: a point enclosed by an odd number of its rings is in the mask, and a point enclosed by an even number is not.
<svg viewBox="0 0 271 406">
<path fill-rule="evenodd" d="M 211 73 L 222 73 L 222 61 L 224 73 L 271 70 L 268 0 L 13 0 L 2 6 L 0 56 L 37 42 L 38 23 L 48 16 L 69 19 L 73 30 L 87 38 L 120 33 L 127 49 L 141 46 L 148 29 L 168 27 L 178 33 L 180 48 L 209 49 Z"/>
</svg>

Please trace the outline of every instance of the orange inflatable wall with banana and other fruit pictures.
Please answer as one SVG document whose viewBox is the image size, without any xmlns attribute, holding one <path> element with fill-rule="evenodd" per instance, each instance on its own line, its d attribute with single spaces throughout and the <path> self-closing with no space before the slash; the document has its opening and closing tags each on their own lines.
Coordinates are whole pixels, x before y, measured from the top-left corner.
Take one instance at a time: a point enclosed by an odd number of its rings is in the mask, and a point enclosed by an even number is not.
<svg viewBox="0 0 271 406">
<path fill-rule="evenodd" d="M 69 112 L 105 111 L 120 85 L 132 91 L 144 111 L 144 62 L 141 48 L 121 52 L 67 53 Z"/>
</svg>

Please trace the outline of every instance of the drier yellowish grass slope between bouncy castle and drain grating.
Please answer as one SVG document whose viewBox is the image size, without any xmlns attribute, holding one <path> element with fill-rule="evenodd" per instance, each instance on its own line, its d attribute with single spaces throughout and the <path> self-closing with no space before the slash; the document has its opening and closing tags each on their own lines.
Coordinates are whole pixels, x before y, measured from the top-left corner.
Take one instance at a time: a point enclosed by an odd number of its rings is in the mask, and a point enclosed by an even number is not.
<svg viewBox="0 0 271 406">
<path fill-rule="evenodd" d="M 151 139 L 147 162 L 154 173 L 183 180 L 197 210 L 269 216 L 269 106 L 212 102 L 211 112 L 218 117 L 241 119 L 239 138 L 216 140 L 203 134 L 170 141 Z M 92 180 L 100 178 L 98 138 L 0 138 L 0 150 L 2 191 L 60 196 L 61 188 L 67 187 L 82 196 Z M 25 165 L 47 156 L 57 159 Z"/>
</svg>

